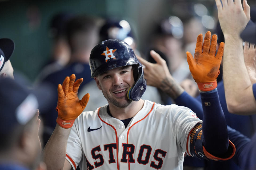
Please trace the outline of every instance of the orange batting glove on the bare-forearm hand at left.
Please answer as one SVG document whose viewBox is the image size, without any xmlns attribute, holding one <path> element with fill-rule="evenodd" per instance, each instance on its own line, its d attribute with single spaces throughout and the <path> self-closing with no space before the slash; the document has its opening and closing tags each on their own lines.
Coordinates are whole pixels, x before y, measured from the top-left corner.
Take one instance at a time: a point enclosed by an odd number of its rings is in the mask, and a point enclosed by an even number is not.
<svg viewBox="0 0 256 170">
<path fill-rule="evenodd" d="M 58 85 L 58 104 L 56 122 L 65 129 L 71 128 L 75 119 L 82 113 L 89 101 L 89 93 L 78 99 L 77 93 L 83 78 L 75 81 L 75 75 L 66 77 L 63 84 Z"/>
</svg>

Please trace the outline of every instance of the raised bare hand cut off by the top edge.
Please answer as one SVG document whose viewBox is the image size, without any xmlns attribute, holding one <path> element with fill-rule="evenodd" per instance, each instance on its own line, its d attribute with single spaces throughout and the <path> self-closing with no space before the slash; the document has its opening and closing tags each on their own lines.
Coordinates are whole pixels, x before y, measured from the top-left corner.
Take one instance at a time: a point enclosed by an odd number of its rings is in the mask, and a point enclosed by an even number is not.
<svg viewBox="0 0 256 170">
<path fill-rule="evenodd" d="M 246 0 L 215 0 L 224 36 L 239 36 L 250 20 L 250 6 Z"/>
</svg>

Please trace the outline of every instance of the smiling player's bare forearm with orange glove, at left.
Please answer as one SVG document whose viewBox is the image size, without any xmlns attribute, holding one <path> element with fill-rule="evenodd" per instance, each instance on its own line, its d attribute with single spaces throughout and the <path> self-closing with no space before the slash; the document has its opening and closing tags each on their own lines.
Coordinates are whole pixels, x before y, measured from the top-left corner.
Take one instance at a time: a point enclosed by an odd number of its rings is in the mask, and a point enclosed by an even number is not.
<svg viewBox="0 0 256 170">
<path fill-rule="evenodd" d="M 67 140 L 75 119 L 82 113 L 89 100 L 86 94 L 82 100 L 77 97 L 78 88 L 83 79 L 75 81 L 75 75 L 66 77 L 62 86 L 58 85 L 57 125 L 44 148 L 44 160 L 47 169 L 71 169 L 65 159 Z"/>
</svg>

